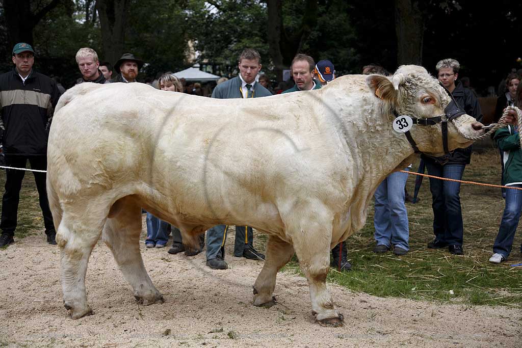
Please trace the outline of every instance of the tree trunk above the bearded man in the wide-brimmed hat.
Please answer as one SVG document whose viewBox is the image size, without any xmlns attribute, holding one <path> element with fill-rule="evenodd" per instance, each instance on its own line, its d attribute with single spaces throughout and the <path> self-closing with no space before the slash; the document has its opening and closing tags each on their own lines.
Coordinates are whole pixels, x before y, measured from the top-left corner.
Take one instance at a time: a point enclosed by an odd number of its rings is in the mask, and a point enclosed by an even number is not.
<svg viewBox="0 0 522 348">
<path fill-rule="evenodd" d="M 96 0 L 100 18 L 103 60 L 111 64 L 122 56 L 129 0 Z M 132 52 L 131 52 L 132 53 Z"/>
</svg>

